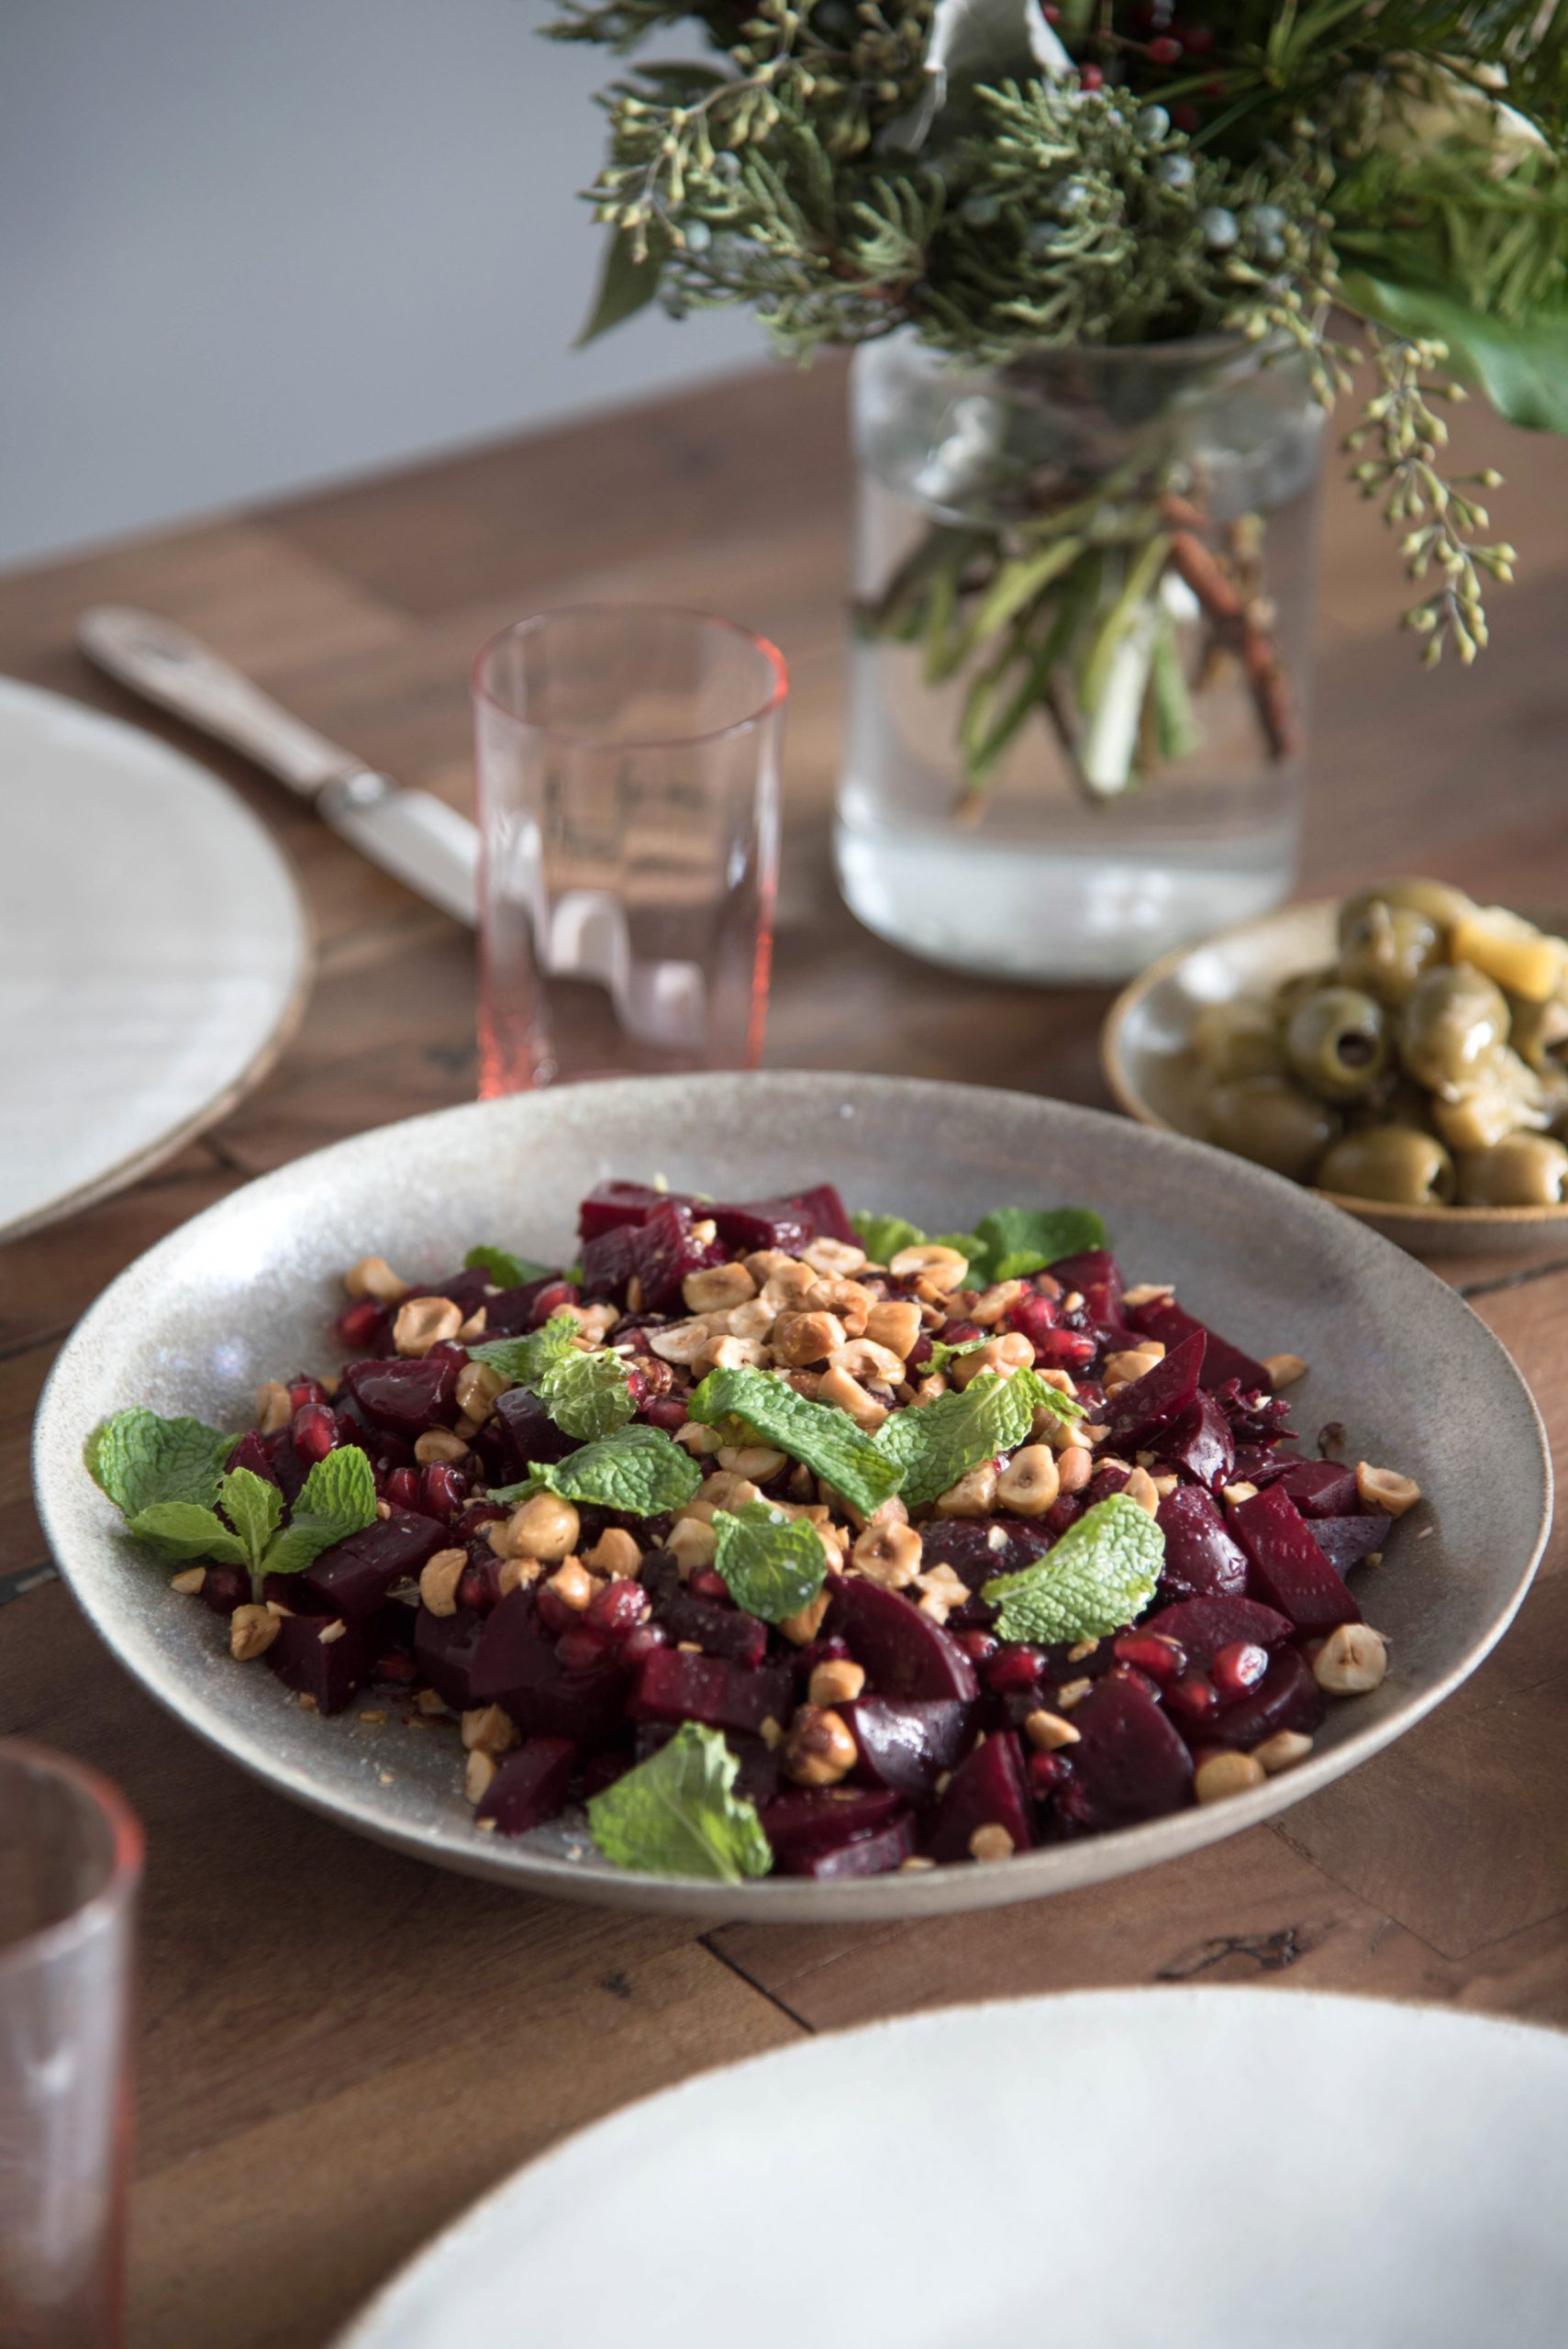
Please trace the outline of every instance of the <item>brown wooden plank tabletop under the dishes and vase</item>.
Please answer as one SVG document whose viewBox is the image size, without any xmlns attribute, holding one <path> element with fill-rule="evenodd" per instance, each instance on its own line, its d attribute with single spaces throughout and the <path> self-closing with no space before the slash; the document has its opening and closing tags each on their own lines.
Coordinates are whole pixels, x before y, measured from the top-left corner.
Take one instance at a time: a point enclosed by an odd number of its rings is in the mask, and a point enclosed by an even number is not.
<svg viewBox="0 0 1568 2349">
<path fill-rule="evenodd" d="M 1476 411 L 1460 439 L 1481 451 Z M 1420 674 L 1376 517 L 1331 498 L 1305 879 L 1422 867 L 1568 902 L 1568 449 L 1486 432 L 1523 583 Z M 540 604 L 648 594 L 784 646 L 789 843 L 770 1059 L 1103 1102 L 1096 991 L 906 961 L 836 900 L 843 383 L 768 373 L 0 580 L 0 669 L 131 709 L 73 651 L 96 599 L 185 620 L 408 782 L 469 796 L 467 665 Z M 155 721 L 153 721 L 155 723 Z M 181 738 L 169 726 L 171 738 Z M 33 1398 L 138 1250 L 246 1177 L 474 1090 L 474 947 L 239 761 L 310 897 L 319 980 L 268 1083 L 122 1198 L 0 1254 L 0 1724 L 89 1757 L 148 1825 L 134 2349 L 317 2349 L 563 2131 L 704 2065 L 951 1999 L 1261 1983 L 1568 2022 L 1568 1546 L 1441 1712 L 1279 1825 L 1101 1891 L 864 1931 L 697 1931 L 423 1870 L 185 1736 L 52 1579 Z M 1451 1276 L 1568 1431 L 1568 1247 Z M 1507 1461 L 1498 1461 L 1507 1475 Z"/>
</svg>

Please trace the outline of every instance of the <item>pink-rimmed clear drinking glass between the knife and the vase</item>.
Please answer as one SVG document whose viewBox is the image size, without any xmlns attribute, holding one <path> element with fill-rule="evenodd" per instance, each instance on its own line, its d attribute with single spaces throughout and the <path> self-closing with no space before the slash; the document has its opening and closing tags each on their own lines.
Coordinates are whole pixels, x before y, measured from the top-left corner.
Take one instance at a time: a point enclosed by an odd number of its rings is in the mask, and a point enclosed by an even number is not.
<svg viewBox="0 0 1568 2349">
<path fill-rule="evenodd" d="M 474 665 L 479 1092 L 753 1069 L 789 677 L 763 637 L 575 604 Z"/>
</svg>

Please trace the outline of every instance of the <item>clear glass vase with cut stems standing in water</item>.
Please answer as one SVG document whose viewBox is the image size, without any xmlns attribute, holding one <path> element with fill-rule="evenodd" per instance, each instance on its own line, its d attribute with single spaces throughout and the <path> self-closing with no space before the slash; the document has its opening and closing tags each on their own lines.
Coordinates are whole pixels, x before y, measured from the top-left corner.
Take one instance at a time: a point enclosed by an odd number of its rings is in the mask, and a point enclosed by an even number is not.
<svg viewBox="0 0 1568 2349">
<path fill-rule="evenodd" d="M 1117 980 L 1286 895 L 1322 409 L 1232 338 L 857 352 L 838 874 L 937 963 Z"/>
</svg>

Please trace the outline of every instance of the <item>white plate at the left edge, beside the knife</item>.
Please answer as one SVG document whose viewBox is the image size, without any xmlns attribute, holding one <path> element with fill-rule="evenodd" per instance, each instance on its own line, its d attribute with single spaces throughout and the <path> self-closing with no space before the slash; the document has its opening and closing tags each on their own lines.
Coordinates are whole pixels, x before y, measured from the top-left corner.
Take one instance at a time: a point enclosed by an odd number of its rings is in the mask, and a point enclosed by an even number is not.
<svg viewBox="0 0 1568 2349">
<path fill-rule="evenodd" d="M 195 759 L 0 677 L 0 1238 L 167 1158 L 268 1066 L 305 916 Z"/>
</svg>

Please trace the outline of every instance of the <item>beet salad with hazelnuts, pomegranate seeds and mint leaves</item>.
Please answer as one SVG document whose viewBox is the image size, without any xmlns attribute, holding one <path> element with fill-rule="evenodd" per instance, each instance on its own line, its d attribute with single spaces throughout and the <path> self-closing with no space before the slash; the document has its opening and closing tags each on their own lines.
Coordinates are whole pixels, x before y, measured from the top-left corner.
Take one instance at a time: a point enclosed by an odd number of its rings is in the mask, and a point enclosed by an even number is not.
<svg viewBox="0 0 1568 2349">
<path fill-rule="evenodd" d="M 477 1832 L 568 1813 L 718 1882 L 1009 1860 L 1256 1788 L 1383 1682 L 1350 1576 L 1418 1487 L 1298 1445 L 1307 1365 L 1127 1287 L 1089 1210 L 613 1182 L 580 1236 L 364 1257 L 343 1367 L 249 1433 L 87 1445 L 239 1663 L 460 1738 Z"/>
</svg>

